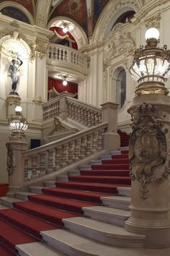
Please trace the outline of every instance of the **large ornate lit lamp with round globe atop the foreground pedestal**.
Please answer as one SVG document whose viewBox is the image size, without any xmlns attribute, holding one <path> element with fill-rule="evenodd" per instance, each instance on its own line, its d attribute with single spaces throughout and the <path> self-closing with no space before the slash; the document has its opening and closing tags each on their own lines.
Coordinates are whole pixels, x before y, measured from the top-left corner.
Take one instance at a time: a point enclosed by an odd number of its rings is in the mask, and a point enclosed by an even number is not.
<svg viewBox="0 0 170 256">
<path fill-rule="evenodd" d="M 137 95 L 159 93 L 167 95 L 164 82 L 170 75 L 170 51 L 167 46 L 158 47 L 159 32 L 155 27 L 146 31 L 146 46 L 134 52 L 130 74 L 138 81 Z"/>
</svg>

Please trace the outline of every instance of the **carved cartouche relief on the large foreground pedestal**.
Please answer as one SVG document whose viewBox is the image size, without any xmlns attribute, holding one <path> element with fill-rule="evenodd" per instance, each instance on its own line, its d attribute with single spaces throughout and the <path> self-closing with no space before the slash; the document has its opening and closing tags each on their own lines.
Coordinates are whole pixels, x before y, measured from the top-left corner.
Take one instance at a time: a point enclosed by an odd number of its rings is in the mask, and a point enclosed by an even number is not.
<svg viewBox="0 0 170 256">
<path fill-rule="evenodd" d="M 140 197 L 148 197 L 146 188 L 151 182 L 164 182 L 170 168 L 167 158 L 166 132 L 163 129 L 161 111 L 156 106 L 143 103 L 132 116 L 133 132 L 130 135 L 129 160 L 130 176 L 140 182 Z M 161 175 L 155 171 L 157 166 L 164 166 Z M 158 170 L 158 169 L 157 169 Z M 161 168 L 160 168 L 161 170 Z"/>
</svg>

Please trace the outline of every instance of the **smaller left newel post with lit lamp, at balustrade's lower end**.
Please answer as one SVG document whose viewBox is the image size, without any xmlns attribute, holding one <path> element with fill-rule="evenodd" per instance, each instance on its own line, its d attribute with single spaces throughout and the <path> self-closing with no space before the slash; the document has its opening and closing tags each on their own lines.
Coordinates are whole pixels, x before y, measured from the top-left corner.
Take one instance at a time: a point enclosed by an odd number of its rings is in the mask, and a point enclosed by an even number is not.
<svg viewBox="0 0 170 256">
<path fill-rule="evenodd" d="M 12 135 L 7 148 L 7 171 L 9 174 L 8 196 L 14 196 L 14 192 L 22 189 L 24 182 L 24 167 L 22 153 L 27 150 L 27 142 L 24 131 L 27 129 L 27 121 L 22 116 L 22 108 L 17 106 L 15 114 L 9 118 L 9 127 Z"/>
</svg>

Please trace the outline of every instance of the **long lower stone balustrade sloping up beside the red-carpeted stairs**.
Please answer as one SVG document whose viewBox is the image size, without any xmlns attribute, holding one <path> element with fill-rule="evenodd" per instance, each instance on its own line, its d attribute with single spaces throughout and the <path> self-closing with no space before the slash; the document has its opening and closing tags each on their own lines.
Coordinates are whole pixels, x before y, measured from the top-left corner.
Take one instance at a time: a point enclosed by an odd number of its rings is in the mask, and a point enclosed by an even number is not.
<svg viewBox="0 0 170 256">
<path fill-rule="evenodd" d="M 104 149 L 107 122 L 25 151 L 24 181 L 53 173 Z M 30 170 L 32 175 L 30 175 Z"/>
</svg>

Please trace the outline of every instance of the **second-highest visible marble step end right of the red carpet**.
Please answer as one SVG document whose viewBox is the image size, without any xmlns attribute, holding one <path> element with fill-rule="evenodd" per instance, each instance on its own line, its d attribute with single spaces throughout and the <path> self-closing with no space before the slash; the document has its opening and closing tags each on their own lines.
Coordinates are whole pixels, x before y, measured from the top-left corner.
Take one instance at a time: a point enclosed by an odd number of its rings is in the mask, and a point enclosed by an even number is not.
<svg viewBox="0 0 170 256">
<path fill-rule="evenodd" d="M 103 205 L 111 207 L 111 208 L 117 208 L 122 210 L 129 210 L 130 206 L 130 197 L 119 197 L 119 196 L 113 196 L 113 197 L 100 197 L 100 199 L 103 202 Z"/>
</svg>

